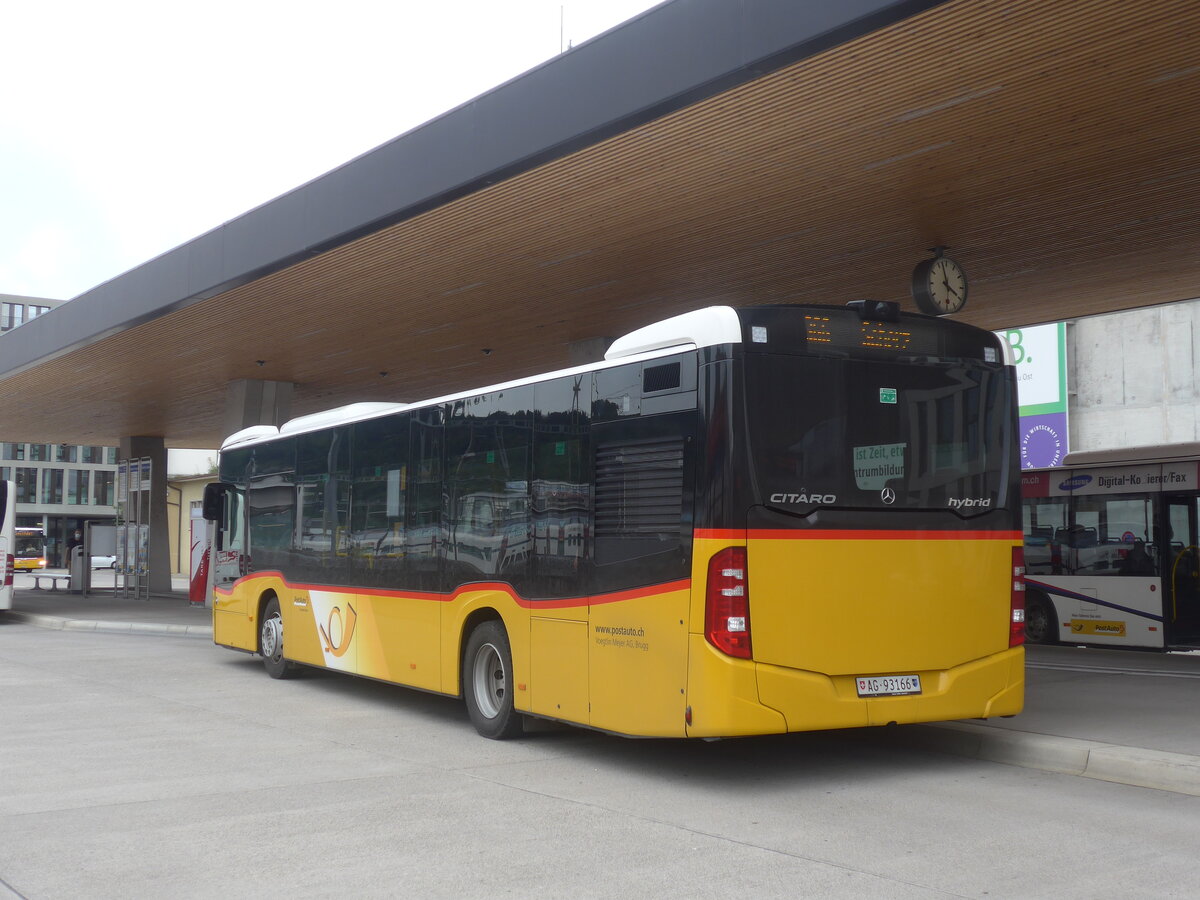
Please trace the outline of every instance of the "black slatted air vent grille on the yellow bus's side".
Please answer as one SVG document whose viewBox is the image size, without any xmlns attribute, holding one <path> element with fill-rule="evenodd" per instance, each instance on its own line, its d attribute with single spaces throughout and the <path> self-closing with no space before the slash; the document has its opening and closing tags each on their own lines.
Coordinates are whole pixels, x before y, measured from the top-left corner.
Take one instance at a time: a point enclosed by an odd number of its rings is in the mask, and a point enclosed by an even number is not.
<svg viewBox="0 0 1200 900">
<path fill-rule="evenodd" d="M 596 448 L 598 538 L 678 535 L 682 511 L 682 438 Z"/>
</svg>

